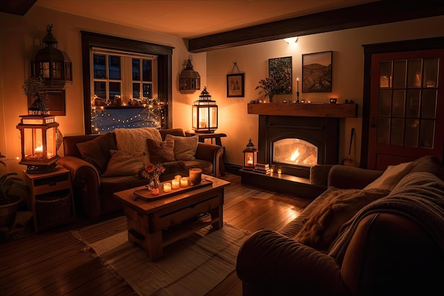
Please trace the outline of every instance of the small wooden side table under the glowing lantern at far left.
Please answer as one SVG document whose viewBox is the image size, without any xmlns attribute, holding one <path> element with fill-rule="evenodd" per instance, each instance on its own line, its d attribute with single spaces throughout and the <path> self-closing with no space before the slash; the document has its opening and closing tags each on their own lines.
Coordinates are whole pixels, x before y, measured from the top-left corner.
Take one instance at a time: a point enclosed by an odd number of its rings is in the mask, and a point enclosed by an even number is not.
<svg viewBox="0 0 444 296">
<path fill-rule="evenodd" d="M 30 188 L 28 209 L 33 212 L 35 232 L 75 221 L 69 170 L 58 167 L 52 172 L 23 172 Z"/>
</svg>

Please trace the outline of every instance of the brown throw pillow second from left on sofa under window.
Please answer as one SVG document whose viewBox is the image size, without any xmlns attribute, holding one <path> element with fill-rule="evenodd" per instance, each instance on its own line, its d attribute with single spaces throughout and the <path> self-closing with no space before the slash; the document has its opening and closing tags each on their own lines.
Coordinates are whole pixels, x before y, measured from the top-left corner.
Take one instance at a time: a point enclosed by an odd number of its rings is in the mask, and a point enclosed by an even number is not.
<svg viewBox="0 0 444 296">
<path fill-rule="evenodd" d="M 111 159 L 101 177 L 132 176 L 143 169 L 143 152 L 111 150 L 110 153 Z"/>
</svg>

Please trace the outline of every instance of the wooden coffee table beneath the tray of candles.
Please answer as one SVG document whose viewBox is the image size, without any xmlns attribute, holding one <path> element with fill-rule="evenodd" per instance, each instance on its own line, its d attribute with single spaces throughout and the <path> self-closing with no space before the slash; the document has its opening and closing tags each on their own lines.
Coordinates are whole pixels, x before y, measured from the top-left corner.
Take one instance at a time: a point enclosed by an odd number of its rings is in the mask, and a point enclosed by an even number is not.
<svg viewBox="0 0 444 296">
<path fill-rule="evenodd" d="M 223 190 L 230 182 L 208 175 L 202 175 L 202 179 L 212 184 L 152 201 L 134 199 L 135 190 L 145 186 L 113 194 L 123 203 L 128 241 L 143 248 L 150 261 L 161 258 L 165 246 L 205 226 L 223 226 Z M 211 215 L 198 218 L 209 211 Z"/>
</svg>

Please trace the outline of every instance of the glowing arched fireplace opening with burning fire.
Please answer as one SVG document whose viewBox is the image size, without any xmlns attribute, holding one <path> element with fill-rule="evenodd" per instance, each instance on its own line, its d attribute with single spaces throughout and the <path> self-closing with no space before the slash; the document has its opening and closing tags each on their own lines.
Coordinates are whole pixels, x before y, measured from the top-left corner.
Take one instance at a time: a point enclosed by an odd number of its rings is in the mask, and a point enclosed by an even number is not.
<svg viewBox="0 0 444 296">
<path fill-rule="evenodd" d="M 273 162 L 311 167 L 318 164 L 318 147 L 298 138 L 284 138 L 273 143 Z"/>
</svg>

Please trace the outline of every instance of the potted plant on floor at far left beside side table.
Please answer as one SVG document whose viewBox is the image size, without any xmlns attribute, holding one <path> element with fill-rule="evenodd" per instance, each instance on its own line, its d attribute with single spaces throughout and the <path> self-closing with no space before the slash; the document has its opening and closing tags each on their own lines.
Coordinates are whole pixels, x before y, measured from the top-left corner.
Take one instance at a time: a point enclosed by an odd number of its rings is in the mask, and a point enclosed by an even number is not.
<svg viewBox="0 0 444 296">
<path fill-rule="evenodd" d="M 0 167 L 6 170 L 6 156 L 0 153 Z M 29 187 L 23 185 L 23 180 L 16 177 L 16 172 L 6 172 L 0 177 L 0 229 L 11 228 L 16 219 L 18 204 L 21 197 L 11 193 L 11 190 L 17 188 L 29 192 Z"/>
</svg>

